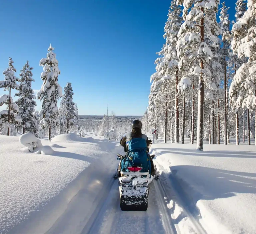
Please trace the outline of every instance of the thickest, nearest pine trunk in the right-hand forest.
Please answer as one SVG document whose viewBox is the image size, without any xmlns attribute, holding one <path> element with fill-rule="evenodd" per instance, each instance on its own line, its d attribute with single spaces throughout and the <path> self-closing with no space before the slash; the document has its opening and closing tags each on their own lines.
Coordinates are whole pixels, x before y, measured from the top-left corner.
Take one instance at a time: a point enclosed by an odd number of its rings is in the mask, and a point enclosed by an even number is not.
<svg viewBox="0 0 256 234">
<path fill-rule="evenodd" d="M 203 7 L 201 8 L 204 13 Z M 201 18 L 201 42 L 204 42 L 204 18 Z M 203 150 L 203 137 L 204 137 L 204 81 L 203 81 L 203 69 L 204 61 L 200 62 L 201 75 L 198 82 L 198 116 L 197 116 L 197 146 L 198 150 Z"/>
</svg>

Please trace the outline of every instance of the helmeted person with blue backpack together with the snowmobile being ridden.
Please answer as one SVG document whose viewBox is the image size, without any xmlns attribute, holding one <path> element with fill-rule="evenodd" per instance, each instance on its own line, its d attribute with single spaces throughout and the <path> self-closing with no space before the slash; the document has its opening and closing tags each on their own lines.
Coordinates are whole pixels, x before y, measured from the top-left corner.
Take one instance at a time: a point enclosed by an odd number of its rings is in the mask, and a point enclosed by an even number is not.
<svg viewBox="0 0 256 234">
<path fill-rule="evenodd" d="M 141 133 L 142 123 L 135 120 L 132 132 L 121 139 L 126 156 L 118 155 L 120 164 L 118 177 L 120 180 L 121 210 L 146 211 L 148 207 L 148 176 L 158 178 L 156 167 L 148 154 L 151 140 Z"/>
</svg>

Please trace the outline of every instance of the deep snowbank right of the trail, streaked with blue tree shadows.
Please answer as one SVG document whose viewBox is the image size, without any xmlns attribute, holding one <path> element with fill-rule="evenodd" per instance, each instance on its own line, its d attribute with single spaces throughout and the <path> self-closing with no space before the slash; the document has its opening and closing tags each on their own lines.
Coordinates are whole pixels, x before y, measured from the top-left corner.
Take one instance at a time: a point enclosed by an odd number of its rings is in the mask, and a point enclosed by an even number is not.
<svg viewBox="0 0 256 234">
<path fill-rule="evenodd" d="M 160 143 L 161 142 L 161 143 Z M 153 144 L 161 180 L 207 233 L 256 233 L 255 146 Z"/>
</svg>

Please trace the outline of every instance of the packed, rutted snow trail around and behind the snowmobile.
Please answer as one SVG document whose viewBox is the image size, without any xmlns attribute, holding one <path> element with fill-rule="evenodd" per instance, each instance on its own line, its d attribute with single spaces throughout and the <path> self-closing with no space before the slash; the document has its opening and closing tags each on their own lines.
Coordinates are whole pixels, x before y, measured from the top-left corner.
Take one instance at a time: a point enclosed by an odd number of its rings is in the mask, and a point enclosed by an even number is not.
<svg viewBox="0 0 256 234">
<path fill-rule="evenodd" d="M 161 178 L 150 183 L 146 212 L 121 211 L 118 186 L 119 181 L 114 180 L 109 194 L 99 201 L 100 208 L 91 216 L 81 234 L 120 234 L 131 231 L 139 234 L 206 233 L 199 222 L 191 214 L 188 215 L 188 210 L 181 211 L 181 206 L 172 201 Z"/>
</svg>

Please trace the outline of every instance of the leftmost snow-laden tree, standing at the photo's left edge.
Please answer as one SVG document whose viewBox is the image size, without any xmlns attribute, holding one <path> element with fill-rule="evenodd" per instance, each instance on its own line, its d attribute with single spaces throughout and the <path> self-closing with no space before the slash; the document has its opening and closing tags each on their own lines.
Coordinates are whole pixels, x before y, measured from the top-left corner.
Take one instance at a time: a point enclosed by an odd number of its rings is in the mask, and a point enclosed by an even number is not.
<svg viewBox="0 0 256 234">
<path fill-rule="evenodd" d="M 7 105 L 7 111 L 1 111 L 0 116 L 1 123 L 7 126 L 7 136 L 10 135 L 10 124 L 20 122 L 20 118 L 16 116 L 19 112 L 19 108 L 13 103 L 11 97 L 11 89 L 18 90 L 19 88 L 19 85 L 16 83 L 19 82 L 19 79 L 15 76 L 14 72 L 16 72 L 16 69 L 13 66 L 13 60 L 9 58 L 9 66 L 3 71 L 4 80 L 0 81 L 0 88 L 9 90 L 9 95 L 3 95 L 0 101 L 0 106 L 3 104 Z"/>
</svg>

